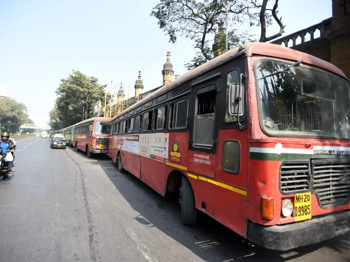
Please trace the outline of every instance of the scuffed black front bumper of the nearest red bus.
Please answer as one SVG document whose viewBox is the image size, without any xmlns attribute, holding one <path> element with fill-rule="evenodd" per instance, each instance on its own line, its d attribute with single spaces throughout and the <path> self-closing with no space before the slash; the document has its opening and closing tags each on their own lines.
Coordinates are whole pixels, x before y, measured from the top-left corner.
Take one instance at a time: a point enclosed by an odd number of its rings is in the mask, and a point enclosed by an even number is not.
<svg viewBox="0 0 350 262">
<path fill-rule="evenodd" d="M 263 226 L 248 221 L 247 239 L 265 248 L 285 251 L 349 231 L 350 211 L 345 211 L 286 225 Z"/>
</svg>

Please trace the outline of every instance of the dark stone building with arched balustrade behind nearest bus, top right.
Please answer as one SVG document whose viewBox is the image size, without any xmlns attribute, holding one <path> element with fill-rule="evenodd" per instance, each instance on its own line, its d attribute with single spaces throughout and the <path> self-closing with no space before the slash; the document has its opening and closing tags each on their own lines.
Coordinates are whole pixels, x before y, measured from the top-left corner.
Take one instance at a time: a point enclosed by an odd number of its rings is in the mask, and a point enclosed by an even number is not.
<svg viewBox="0 0 350 262">
<path fill-rule="evenodd" d="M 332 0 L 332 17 L 271 43 L 328 61 L 350 78 L 349 9 L 349 0 Z"/>
</svg>

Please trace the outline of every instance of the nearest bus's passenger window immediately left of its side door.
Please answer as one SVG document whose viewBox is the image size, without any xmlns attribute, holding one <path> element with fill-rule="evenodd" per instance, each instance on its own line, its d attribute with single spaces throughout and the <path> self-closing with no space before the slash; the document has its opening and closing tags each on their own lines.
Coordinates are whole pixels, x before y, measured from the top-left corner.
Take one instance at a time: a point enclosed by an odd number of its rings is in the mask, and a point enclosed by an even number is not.
<svg viewBox="0 0 350 262">
<path fill-rule="evenodd" d="M 170 105 L 170 129 L 187 128 L 188 100 Z"/>
</svg>

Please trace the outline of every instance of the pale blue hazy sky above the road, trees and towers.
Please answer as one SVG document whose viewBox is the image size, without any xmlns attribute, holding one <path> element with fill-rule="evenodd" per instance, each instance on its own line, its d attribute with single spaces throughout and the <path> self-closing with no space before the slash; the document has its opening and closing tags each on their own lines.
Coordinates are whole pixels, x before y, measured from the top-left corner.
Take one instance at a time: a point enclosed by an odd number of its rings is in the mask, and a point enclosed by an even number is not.
<svg viewBox="0 0 350 262">
<path fill-rule="evenodd" d="M 144 92 L 162 84 L 168 50 L 175 74 L 186 73 L 183 65 L 194 57 L 193 42 L 178 37 L 180 42 L 169 43 L 158 20 L 149 16 L 158 3 L 0 0 L 0 95 L 25 103 L 29 117 L 43 125 L 49 121 L 60 79 L 73 69 L 109 87 L 111 81 L 113 86 L 123 82 L 131 94 L 138 71 L 146 66 L 141 71 Z M 331 0 L 280 0 L 279 16 L 286 24 L 283 36 L 331 17 L 331 5 Z M 278 31 L 274 23 L 266 35 Z M 257 27 L 249 33 L 260 37 Z"/>
</svg>

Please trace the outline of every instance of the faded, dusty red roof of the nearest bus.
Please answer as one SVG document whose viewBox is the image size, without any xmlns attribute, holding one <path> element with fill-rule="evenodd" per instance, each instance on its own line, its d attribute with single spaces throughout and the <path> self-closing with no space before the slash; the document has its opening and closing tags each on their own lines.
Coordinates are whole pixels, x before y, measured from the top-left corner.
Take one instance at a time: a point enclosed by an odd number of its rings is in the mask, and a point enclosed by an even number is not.
<svg viewBox="0 0 350 262">
<path fill-rule="evenodd" d="M 198 75 L 203 74 L 204 72 L 208 72 L 215 67 L 229 61 L 230 59 L 239 56 L 240 54 L 245 54 L 245 56 L 253 56 L 254 54 L 262 55 L 262 56 L 268 56 L 268 57 L 278 57 L 283 59 L 288 59 L 292 61 L 300 61 L 303 60 L 304 64 L 310 64 L 319 68 L 322 68 L 324 70 L 330 71 L 332 73 L 335 73 L 345 79 L 345 74 L 336 66 L 332 65 L 331 63 L 328 63 L 320 58 L 311 56 L 310 54 L 306 54 L 294 49 L 287 48 L 285 46 L 276 45 L 276 44 L 270 44 L 270 43 L 249 43 L 244 45 L 244 47 L 239 50 L 239 48 L 234 48 L 229 50 L 226 53 L 223 53 L 220 56 L 217 56 L 210 61 L 208 61 L 205 64 L 202 64 L 196 68 L 194 68 L 191 71 L 188 71 L 187 73 L 181 75 L 181 77 L 175 79 L 174 81 L 168 83 L 167 85 L 159 88 L 152 94 L 144 97 L 144 99 L 141 99 L 137 103 L 133 104 L 131 107 L 128 107 L 120 114 L 116 115 L 112 118 L 112 121 L 125 113 L 133 110 L 134 108 L 139 107 L 140 105 L 146 103 L 149 100 L 154 99 L 158 95 L 168 92 L 169 90 L 175 88 L 178 85 L 181 85 L 182 83 L 185 83 L 189 81 L 190 79 L 196 78 Z M 83 122 L 81 122 L 83 123 Z"/>
</svg>

